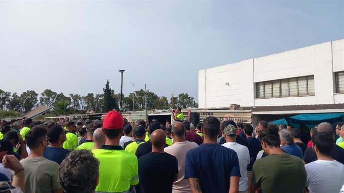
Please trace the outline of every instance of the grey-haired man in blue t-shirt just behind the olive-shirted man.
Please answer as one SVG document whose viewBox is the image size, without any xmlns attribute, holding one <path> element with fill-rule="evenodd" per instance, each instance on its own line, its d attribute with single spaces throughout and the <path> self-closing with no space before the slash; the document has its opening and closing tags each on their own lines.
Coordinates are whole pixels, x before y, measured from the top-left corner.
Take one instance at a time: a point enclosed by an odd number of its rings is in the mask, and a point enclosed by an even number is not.
<svg viewBox="0 0 344 193">
<path fill-rule="evenodd" d="M 278 134 L 280 135 L 282 149 L 290 155 L 302 159 L 302 150 L 298 145 L 294 144 L 292 132 L 287 129 L 282 129 Z"/>
</svg>

